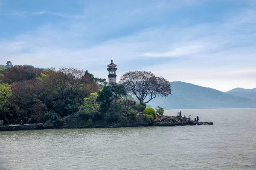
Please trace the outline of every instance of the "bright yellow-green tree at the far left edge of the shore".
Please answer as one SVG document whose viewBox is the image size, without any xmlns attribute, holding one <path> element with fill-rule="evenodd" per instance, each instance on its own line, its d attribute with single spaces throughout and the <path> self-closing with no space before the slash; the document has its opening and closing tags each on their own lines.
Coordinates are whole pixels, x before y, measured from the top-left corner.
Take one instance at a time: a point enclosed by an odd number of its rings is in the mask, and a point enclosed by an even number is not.
<svg viewBox="0 0 256 170">
<path fill-rule="evenodd" d="M 0 115 L 3 116 L 7 125 L 10 125 L 6 118 L 6 112 L 9 111 L 10 97 L 12 96 L 11 86 L 6 83 L 0 83 Z"/>
</svg>

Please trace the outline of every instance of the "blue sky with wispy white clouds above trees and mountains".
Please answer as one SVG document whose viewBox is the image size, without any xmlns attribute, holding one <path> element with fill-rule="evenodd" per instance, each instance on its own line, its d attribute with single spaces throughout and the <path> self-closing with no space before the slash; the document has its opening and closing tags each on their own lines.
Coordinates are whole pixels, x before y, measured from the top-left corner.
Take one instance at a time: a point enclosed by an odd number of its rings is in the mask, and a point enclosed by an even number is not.
<svg viewBox="0 0 256 170">
<path fill-rule="evenodd" d="M 256 88 L 256 0 L 0 0 L 0 64 Z"/>
</svg>

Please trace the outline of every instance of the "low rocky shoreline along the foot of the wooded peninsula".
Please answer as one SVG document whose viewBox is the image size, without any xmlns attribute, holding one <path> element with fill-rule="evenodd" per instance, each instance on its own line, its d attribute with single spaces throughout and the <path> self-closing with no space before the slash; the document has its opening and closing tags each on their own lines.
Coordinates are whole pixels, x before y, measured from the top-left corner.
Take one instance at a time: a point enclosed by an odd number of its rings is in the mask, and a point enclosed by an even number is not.
<svg viewBox="0 0 256 170">
<path fill-rule="evenodd" d="M 148 123 L 144 116 L 138 115 L 136 120 L 122 120 L 120 123 L 96 121 L 87 125 L 86 119 L 81 119 L 77 114 L 57 119 L 44 124 L 25 124 L 0 126 L 0 131 L 9 130 L 39 130 L 39 129 L 69 129 L 69 128 L 117 128 L 117 127 L 146 127 L 146 126 L 186 126 L 186 125 L 213 125 L 213 122 L 194 122 L 180 116 L 157 116 L 154 122 Z"/>
</svg>

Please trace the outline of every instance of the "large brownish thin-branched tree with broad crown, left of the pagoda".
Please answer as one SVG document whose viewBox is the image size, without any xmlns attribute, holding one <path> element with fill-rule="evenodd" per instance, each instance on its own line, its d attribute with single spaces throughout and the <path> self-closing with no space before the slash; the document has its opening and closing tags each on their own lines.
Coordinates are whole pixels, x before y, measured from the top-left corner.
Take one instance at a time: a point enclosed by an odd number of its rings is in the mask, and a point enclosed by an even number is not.
<svg viewBox="0 0 256 170">
<path fill-rule="evenodd" d="M 67 103 L 71 106 L 71 113 L 74 107 L 90 93 L 98 90 L 95 81 L 83 70 L 76 68 L 50 68 L 44 71 L 39 78 L 45 90 L 51 91 L 52 98 L 60 100 L 61 116 L 64 116 L 64 108 Z"/>
</svg>

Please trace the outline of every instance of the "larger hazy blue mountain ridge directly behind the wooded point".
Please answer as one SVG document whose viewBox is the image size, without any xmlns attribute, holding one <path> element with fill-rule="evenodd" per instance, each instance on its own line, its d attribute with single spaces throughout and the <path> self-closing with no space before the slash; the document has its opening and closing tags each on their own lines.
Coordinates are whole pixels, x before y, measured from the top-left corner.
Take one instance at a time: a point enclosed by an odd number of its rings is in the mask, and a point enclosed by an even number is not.
<svg viewBox="0 0 256 170">
<path fill-rule="evenodd" d="M 170 83 L 172 95 L 153 99 L 149 103 L 152 108 L 156 108 L 157 105 L 165 109 L 256 108 L 256 102 L 252 99 L 186 82 Z"/>
</svg>

